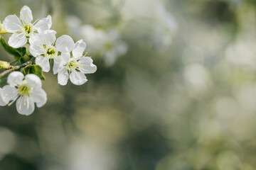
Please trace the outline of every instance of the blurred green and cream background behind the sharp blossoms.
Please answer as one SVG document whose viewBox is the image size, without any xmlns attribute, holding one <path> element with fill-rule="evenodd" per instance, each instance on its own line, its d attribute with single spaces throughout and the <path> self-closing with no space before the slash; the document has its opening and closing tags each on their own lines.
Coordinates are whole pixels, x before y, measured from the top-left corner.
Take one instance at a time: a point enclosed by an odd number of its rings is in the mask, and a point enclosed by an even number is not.
<svg viewBox="0 0 256 170">
<path fill-rule="evenodd" d="M 1 170 L 256 169 L 255 1 L 1 0 L 0 20 L 24 5 L 97 72 L 45 73 L 32 115 L 0 108 Z"/>
</svg>

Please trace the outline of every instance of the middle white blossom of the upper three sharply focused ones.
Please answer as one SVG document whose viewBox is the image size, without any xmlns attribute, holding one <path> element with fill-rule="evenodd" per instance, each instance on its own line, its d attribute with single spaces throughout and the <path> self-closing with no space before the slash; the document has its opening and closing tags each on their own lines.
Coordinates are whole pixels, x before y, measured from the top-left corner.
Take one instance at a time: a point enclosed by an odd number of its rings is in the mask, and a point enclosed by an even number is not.
<svg viewBox="0 0 256 170">
<path fill-rule="evenodd" d="M 36 64 L 42 67 L 43 72 L 50 71 L 49 60 L 54 60 L 53 74 L 58 73 L 58 64 L 60 64 L 62 60 L 68 62 L 70 52 L 75 46 L 70 36 L 62 35 L 56 40 L 55 34 L 55 30 L 46 30 L 36 35 L 36 40 L 29 47 L 31 55 L 36 57 Z M 59 52 L 61 52 L 61 55 L 58 54 Z"/>
</svg>

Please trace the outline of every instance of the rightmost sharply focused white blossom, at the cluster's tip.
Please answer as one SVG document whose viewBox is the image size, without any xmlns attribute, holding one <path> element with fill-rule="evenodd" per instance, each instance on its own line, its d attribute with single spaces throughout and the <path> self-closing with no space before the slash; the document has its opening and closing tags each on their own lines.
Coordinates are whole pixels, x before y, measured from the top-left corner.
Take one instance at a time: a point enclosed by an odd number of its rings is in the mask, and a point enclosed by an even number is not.
<svg viewBox="0 0 256 170">
<path fill-rule="evenodd" d="M 85 74 L 94 73 L 97 70 L 95 64 L 92 64 L 90 57 L 84 57 L 82 54 L 85 51 L 85 42 L 79 40 L 75 43 L 75 47 L 72 51 L 73 56 L 69 57 L 69 60 L 60 62 L 58 67 L 58 84 L 65 85 L 68 83 L 68 79 L 75 85 L 85 84 L 87 81 Z"/>
</svg>

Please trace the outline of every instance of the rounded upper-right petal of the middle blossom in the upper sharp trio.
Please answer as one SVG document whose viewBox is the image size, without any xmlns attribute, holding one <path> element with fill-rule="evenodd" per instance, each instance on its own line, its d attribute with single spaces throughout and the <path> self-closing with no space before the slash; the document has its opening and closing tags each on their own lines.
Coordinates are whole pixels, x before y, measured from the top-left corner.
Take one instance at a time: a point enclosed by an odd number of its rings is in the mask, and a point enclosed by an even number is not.
<svg viewBox="0 0 256 170">
<path fill-rule="evenodd" d="M 62 35 L 56 40 L 56 49 L 60 52 L 71 52 L 74 47 L 75 42 L 68 35 Z"/>
</svg>

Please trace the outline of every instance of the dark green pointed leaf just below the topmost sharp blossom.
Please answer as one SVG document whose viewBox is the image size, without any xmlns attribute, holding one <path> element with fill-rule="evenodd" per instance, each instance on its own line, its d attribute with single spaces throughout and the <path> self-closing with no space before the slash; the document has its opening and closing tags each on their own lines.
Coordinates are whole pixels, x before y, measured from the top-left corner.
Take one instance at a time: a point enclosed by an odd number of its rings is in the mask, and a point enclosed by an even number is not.
<svg viewBox="0 0 256 170">
<path fill-rule="evenodd" d="M 4 38 L 0 35 L 0 44 L 8 52 L 10 55 L 14 55 L 15 59 L 17 60 L 20 57 L 23 57 L 26 54 L 26 47 L 19 47 L 14 48 L 9 46 Z"/>
</svg>

